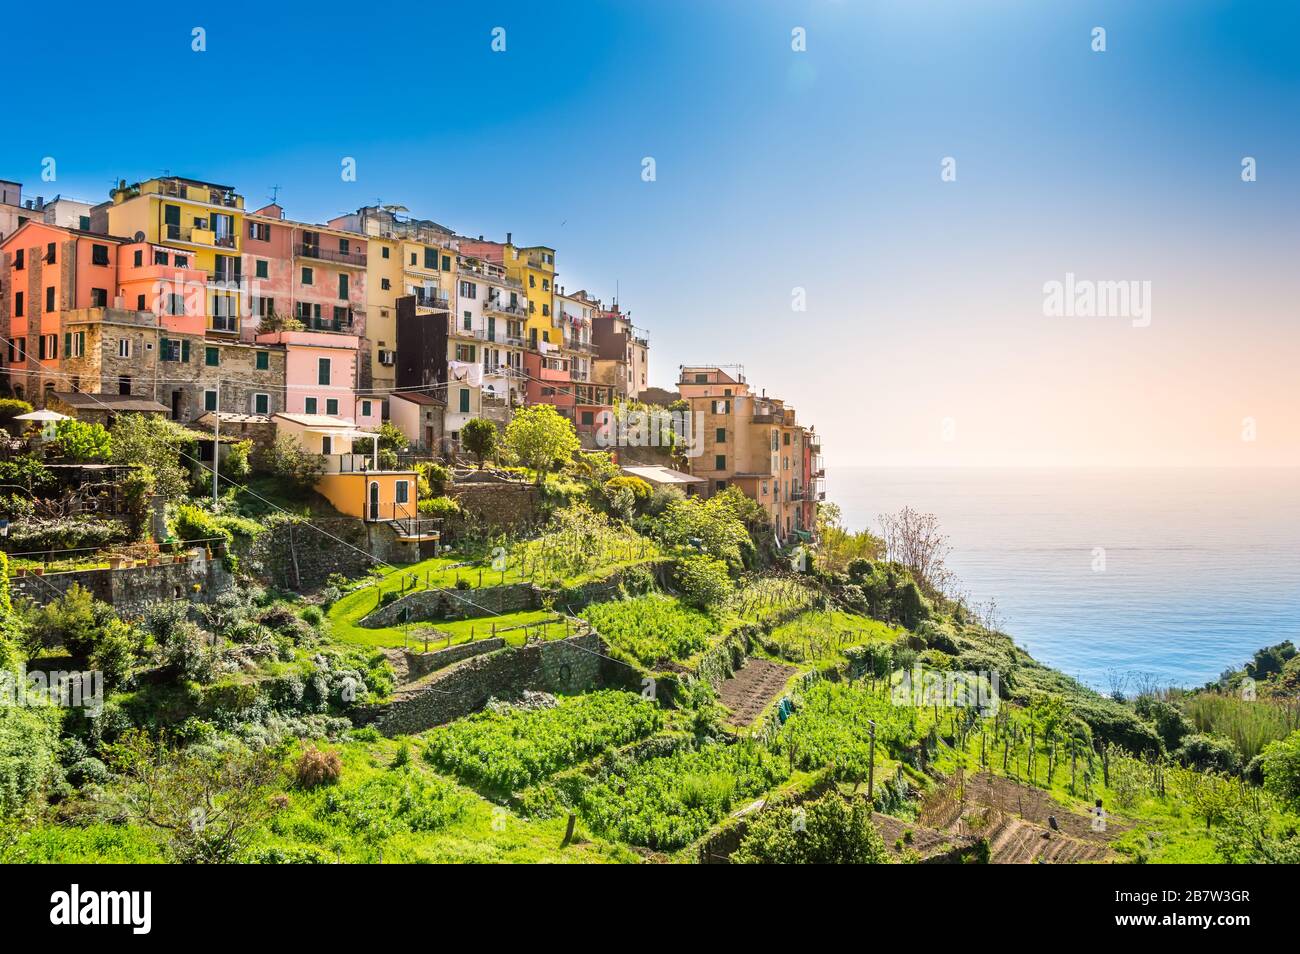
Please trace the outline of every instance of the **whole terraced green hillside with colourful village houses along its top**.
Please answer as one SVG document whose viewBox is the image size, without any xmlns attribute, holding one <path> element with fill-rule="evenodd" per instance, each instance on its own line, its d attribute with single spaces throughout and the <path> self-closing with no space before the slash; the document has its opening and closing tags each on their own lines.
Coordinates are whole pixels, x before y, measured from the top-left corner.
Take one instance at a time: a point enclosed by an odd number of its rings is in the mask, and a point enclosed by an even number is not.
<svg viewBox="0 0 1300 954">
<path fill-rule="evenodd" d="M 1300 858 L 1291 643 L 1043 665 L 555 250 L 0 188 L 0 860 Z"/>
</svg>

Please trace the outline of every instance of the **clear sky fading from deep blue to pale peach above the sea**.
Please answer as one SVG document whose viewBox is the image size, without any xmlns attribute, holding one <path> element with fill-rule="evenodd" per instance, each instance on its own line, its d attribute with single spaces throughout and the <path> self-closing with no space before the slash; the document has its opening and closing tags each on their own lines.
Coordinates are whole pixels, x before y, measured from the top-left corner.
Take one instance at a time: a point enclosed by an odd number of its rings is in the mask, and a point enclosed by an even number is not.
<svg viewBox="0 0 1300 954">
<path fill-rule="evenodd" d="M 12 5 L 0 177 L 554 246 L 653 383 L 744 364 L 832 465 L 1300 464 L 1300 4 L 294 6 Z M 1044 315 L 1067 274 L 1149 325 Z"/>
</svg>

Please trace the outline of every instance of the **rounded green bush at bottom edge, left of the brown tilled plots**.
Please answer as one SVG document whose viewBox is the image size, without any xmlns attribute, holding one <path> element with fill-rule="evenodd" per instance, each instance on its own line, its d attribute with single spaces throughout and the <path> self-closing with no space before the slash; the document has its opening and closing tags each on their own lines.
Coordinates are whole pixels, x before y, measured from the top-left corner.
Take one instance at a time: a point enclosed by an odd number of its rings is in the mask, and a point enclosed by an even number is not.
<svg viewBox="0 0 1300 954">
<path fill-rule="evenodd" d="M 864 798 L 837 793 L 801 807 L 779 806 L 755 818 L 733 864 L 888 864 L 889 851 Z"/>
</svg>

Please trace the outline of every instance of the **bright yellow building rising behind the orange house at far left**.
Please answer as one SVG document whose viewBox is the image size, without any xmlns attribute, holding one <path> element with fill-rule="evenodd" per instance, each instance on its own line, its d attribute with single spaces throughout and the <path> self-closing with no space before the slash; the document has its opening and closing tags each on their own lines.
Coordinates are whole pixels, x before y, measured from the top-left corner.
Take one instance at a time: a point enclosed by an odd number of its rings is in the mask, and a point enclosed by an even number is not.
<svg viewBox="0 0 1300 954">
<path fill-rule="evenodd" d="M 204 289 L 186 290 L 186 309 L 202 302 L 208 331 L 238 335 L 243 214 L 243 196 L 234 187 L 168 175 L 130 186 L 122 179 L 91 221 L 95 230 L 155 246 L 153 261 L 136 264 L 207 273 Z"/>
</svg>

